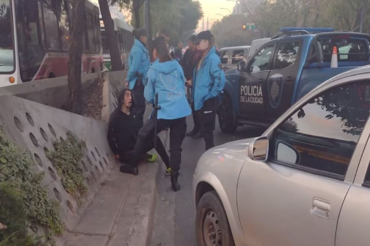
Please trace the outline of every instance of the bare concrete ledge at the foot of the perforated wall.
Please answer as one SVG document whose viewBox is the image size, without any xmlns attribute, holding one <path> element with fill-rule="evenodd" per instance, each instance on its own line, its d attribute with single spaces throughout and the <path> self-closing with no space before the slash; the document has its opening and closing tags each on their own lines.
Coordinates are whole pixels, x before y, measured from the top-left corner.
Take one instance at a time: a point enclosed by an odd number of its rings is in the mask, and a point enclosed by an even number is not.
<svg viewBox="0 0 370 246">
<path fill-rule="evenodd" d="M 155 212 L 159 163 L 139 165 L 139 175 L 119 172 L 101 183 L 81 220 L 63 236 L 65 246 L 146 246 Z"/>
</svg>

